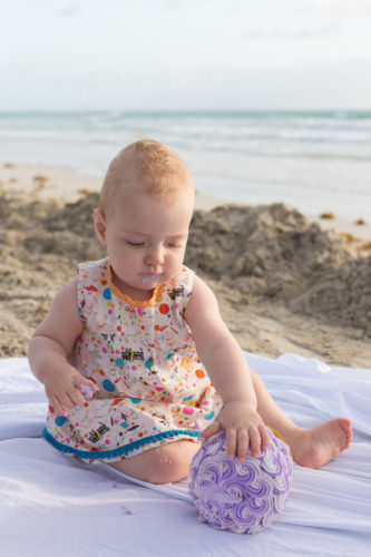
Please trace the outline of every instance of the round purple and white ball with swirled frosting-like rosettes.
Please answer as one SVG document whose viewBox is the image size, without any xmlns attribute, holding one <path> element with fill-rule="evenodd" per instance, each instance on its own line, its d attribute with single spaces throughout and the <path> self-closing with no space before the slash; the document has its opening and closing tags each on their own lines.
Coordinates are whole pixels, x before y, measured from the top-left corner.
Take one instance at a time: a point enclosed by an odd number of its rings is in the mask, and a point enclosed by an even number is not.
<svg viewBox="0 0 371 557">
<path fill-rule="evenodd" d="M 283 511 L 291 489 L 290 448 L 267 429 L 270 444 L 245 462 L 227 456 L 224 431 L 194 456 L 189 491 L 199 519 L 236 534 L 265 530 Z"/>
</svg>

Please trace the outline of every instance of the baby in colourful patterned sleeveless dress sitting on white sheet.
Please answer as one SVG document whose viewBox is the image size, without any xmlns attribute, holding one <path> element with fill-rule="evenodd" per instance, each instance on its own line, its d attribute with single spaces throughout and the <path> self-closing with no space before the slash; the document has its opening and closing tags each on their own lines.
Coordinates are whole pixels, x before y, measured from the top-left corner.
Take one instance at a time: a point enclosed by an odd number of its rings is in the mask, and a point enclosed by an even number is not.
<svg viewBox="0 0 371 557">
<path fill-rule="evenodd" d="M 78 266 L 29 346 L 50 401 L 43 437 L 164 483 L 188 475 L 199 434 L 223 429 L 243 461 L 267 447 L 266 424 L 299 465 L 320 468 L 349 447 L 351 422 L 296 427 L 248 369 L 215 295 L 183 265 L 194 199 L 189 169 L 160 143 L 111 162 L 94 214 L 108 256 Z"/>
</svg>

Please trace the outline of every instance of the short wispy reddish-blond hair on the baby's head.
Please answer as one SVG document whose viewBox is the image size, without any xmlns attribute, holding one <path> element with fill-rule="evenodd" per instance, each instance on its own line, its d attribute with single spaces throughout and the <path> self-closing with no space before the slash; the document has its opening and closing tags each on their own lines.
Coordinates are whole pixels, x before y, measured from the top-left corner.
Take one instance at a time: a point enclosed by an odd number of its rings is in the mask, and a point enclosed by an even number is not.
<svg viewBox="0 0 371 557">
<path fill-rule="evenodd" d="M 111 160 L 99 196 L 99 209 L 105 213 L 118 190 L 133 183 L 145 194 L 170 205 L 182 188 L 194 195 L 191 170 L 173 149 L 154 139 L 134 141 Z"/>
</svg>

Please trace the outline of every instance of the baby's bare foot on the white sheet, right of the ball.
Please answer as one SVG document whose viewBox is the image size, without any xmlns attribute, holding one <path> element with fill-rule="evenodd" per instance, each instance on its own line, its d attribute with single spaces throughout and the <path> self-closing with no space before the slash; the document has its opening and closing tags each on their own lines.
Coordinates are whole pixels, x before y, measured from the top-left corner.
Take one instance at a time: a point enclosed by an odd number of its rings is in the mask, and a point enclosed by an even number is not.
<svg viewBox="0 0 371 557">
<path fill-rule="evenodd" d="M 352 423 L 346 418 L 335 418 L 302 430 L 290 448 L 297 465 L 321 468 L 348 449 L 352 440 Z"/>
</svg>

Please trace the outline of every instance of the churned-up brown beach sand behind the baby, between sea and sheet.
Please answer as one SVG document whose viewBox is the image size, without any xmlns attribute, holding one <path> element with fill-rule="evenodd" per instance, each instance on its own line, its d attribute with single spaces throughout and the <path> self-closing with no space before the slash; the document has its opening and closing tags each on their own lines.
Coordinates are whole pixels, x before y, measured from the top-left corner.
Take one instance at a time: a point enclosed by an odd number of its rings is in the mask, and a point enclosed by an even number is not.
<svg viewBox="0 0 371 557">
<path fill-rule="evenodd" d="M 25 355 L 77 262 L 105 255 L 91 224 L 100 185 L 71 168 L 0 165 L 1 356 Z M 197 194 L 186 264 L 213 287 L 241 346 L 369 368 L 370 223 L 217 205 Z"/>
</svg>

